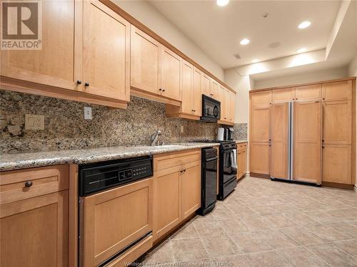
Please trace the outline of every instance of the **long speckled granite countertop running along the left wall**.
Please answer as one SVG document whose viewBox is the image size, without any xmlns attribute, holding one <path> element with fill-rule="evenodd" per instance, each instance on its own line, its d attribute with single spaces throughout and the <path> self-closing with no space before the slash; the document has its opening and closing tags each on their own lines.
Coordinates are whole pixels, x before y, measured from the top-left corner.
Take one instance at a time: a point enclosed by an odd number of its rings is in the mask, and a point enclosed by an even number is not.
<svg viewBox="0 0 357 267">
<path fill-rule="evenodd" d="M 0 171 L 49 166 L 56 164 L 82 164 L 101 162 L 111 159 L 125 159 L 161 153 L 193 150 L 213 147 L 218 143 L 185 142 L 163 146 L 120 146 L 99 147 L 84 150 L 59 150 L 49 152 L 31 152 L 21 154 L 5 154 L 0 158 Z"/>
</svg>

